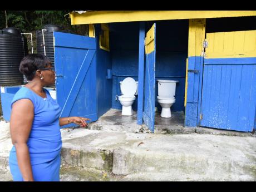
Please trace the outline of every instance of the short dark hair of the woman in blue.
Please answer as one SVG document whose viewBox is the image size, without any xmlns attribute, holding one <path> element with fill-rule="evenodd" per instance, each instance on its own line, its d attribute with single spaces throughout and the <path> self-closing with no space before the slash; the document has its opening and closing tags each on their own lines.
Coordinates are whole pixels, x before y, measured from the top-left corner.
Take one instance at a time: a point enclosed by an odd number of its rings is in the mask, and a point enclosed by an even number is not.
<svg viewBox="0 0 256 192">
<path fill-rule="evenodd" d="M 33 53 L 25 56 L 19 65 L 19 71 L 26 76 L 28 81 L 33 80 L 36 70 L 46 68 L 52 62 L 45 55 Z"/>
</svg>

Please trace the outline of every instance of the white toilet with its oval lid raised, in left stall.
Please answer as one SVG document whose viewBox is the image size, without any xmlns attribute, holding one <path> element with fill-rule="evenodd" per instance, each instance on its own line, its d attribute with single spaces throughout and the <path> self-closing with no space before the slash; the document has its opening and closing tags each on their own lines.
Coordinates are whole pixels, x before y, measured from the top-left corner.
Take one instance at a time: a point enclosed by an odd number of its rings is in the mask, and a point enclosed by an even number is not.
<svg viewBox="0 0 256 192">
<path fill-rule="evenodd" d="M 122 105 L 122 115 L 133 115 L 134 111 L 131 105 L 136 99 L 135 95 L 137 95 L 138 82 L 131 77 L 127 77 L 123 81 L 120 81 L 120 89 L 122 95 L 118 99 Z"/>
</svg>

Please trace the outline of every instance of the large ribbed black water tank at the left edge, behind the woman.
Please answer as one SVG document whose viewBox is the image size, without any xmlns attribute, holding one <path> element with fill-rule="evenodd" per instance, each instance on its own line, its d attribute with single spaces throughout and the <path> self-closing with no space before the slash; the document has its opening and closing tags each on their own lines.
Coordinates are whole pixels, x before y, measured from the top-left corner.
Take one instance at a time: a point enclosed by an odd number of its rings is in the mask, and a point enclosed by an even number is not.
<svg viewBox="0 0 256 192">
<path fill-rule="evenodd" d="M 0 86 L 23 84 L 19 64 L 27 54 L 26 43 L 18 28 L 0 30 Z"/>
</svg>

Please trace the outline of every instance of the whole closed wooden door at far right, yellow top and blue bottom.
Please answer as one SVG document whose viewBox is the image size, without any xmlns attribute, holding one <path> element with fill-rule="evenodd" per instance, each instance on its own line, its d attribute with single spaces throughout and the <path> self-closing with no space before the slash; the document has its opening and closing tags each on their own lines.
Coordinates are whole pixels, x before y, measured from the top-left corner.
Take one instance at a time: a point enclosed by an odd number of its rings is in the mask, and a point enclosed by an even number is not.
<svg viewBox="0 0 256 192">
<path fill-rule="evenodd" d="M 200 125 L 250 132 L 256 106 L 256 31 L 207 33 Z"/>
</svg>

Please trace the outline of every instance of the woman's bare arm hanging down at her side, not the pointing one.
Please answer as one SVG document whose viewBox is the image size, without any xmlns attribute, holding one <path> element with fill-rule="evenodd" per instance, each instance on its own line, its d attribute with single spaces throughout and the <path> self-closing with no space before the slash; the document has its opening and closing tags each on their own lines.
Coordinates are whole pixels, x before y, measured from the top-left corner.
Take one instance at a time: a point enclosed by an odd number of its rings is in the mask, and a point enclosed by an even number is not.
<svg viewBox="0 0 256 192">
<path fill-rule="evenodd" d="M 34 118 L 34 106 L 31 100 L 21 99 L 12 105 L 10 132 L 12 144 L 16 148 L 18 166 L 24 181 L 33 181 L 31 161 L 27 140 Z"/>
</svg>

